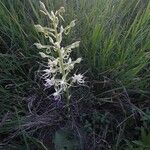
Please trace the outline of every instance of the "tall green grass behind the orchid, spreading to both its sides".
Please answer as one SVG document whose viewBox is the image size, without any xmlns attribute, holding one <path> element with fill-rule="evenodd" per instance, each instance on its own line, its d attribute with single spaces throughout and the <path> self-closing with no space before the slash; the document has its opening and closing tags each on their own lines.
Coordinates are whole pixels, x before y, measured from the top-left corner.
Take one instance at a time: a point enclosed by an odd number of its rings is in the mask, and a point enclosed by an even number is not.
<svg viewBox="0 0 150 150">
<path fill-rule="evenodd" d="M 110 78 L 120 80 L 125 86 L 136 85 L 143 89 L 149 86 L 149 1 L 43 2 L 49 10 L 64 5 L 68 22 L 77 18 L 77 29 L 72 35 L 80 36 L 82 46 L 79 54 L 96 71 L 95 75 L 107 72 Z M 17 44 L 23 54 L 32 54 L 33 57 L 36 52 L 30 47 L 34 41 L 42 38 L 34 31 L 33 24 L 40 22 L 44 25 L 46 22 L 36 11 L 39 4 L 34 0 L 2 0 L 0 7 L 1 33 L 11 36 L 12 47 Z M 71 42 L 70 39 L 67 38 L 66 42 Z"/>
</svg>

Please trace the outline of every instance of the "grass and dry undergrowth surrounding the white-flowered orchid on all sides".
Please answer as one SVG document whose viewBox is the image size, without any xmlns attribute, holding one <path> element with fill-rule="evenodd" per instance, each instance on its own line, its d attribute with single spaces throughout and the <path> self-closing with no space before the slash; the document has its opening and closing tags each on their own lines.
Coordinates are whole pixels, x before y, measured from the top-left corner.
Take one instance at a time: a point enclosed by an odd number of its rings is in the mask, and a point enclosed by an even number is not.
<svg viewBox="0 0 150 150">
<path fill-rule="evenodd" d="M 71 118 L 52 105 L 33 45 L 46 42 L 34 24 L 49 22 L 37 0 L 0 0 L 0 149 L 149 150 L 150 1 L 43 2 L 65 7 L 64 24 L 77 19 L 64 44 L 81 41 L 88 87 L 73 90 Z"/>
</svg>

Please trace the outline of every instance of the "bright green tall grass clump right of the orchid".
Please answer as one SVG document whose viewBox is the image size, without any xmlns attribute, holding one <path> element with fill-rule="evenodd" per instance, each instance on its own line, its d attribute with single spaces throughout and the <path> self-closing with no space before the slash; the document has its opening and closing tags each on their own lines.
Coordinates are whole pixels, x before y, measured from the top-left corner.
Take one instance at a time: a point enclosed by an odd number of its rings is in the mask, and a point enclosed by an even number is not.
<svg viewBox="0 0 150 150">
<path fill-rule="evenodd" d="M 81 26 L 85 30 L 81 52 L 87 62 L 97 73 L 108 71 L 125 86 L 148 87 L 150 2 L 97 3 Z"/>
</svg>

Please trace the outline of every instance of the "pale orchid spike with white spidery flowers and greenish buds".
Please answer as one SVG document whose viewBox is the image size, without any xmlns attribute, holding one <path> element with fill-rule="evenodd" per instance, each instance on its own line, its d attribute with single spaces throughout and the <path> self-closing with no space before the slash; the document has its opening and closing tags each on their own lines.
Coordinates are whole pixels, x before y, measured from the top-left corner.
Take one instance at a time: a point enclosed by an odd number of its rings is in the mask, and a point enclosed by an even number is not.
<svg viewBox="0 0 150 150">
<path fill-rule="evenodd" d="M 47 66 L 42 70 L 42 78 L 45 80 L 45 87 L 54 87 L 55 92 L 52 94 L 55 100 L 61 99 L 62 94 L 66 95 L 67 104 L 69 104 L 69 89 L 75 84 L 84 84 L 84 76 L 82 74 L 74 74 L 71 71 L 75 64 L 81 62 L 82 58 L 72 60 L 70 54 L 73 49 L 79 47 L 80 41 L 76 41 L 68 46 L 62 46 L 63 35 L 68 35 L 71 28 L 75 26 L 75 20 L 71 21 L 66 27 L 60 25 L 60 20 L 64 21 L 64 7 L 56 12 L 50 13 L 46 9 L 44 3 L 40 1 L 41 12 L 48 17 L 51 22 L 50 27 L 35 25 L 38 32 L 42 33 L 49 41 L 49 45 L 35 43 L 34 45 L 40 49 L 39 54 L 42 58 L 47 58 Z M 73 74 L 73 73 L 72 73 Z"/>
</svg>

